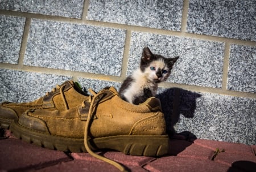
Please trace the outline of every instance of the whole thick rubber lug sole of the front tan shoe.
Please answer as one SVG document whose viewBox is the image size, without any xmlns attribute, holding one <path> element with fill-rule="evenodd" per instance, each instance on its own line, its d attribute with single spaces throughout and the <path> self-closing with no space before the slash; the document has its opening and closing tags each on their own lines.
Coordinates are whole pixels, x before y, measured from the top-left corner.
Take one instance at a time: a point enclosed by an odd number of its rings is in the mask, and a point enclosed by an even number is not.
<svg viewBox="0 0 256 172">
<path fill-rule="evenodd" d="M 84 139 L 53 136 L 31 131 L 20 126 L 17 121 L 10 125 L 14 136 L 40 147 L 70 152 L 86 152 Z M 163 156 L 168 153 L 168 135 L 119 135 L 88 139 L 93 151 L 113 149 L 115 151 L 135 156 Z"/>
</svg>

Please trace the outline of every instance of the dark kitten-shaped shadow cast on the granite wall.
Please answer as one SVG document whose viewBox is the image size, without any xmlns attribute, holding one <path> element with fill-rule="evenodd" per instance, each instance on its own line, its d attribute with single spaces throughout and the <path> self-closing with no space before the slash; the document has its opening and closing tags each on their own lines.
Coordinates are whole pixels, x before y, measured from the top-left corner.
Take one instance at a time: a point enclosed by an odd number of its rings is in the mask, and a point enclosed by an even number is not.
<svg viewBox="0 0 256 172">
<path fill-rule="evenodd" d="M 199 93 L 180 88 L 165 89 L 163 92 L 156 95 L 156 98 L 159 98 L 162 104 L 168 135 L 172 136 L 176 134 L 174 126 L 179 122 L 180 115 L 183 115 L 185 118 L 194 117 L 196 98 L 199 97 L 201 97 Z M 196 139 L 196 136 L 188 131 L 184 131 L 181 134 Z"/>
</svg>

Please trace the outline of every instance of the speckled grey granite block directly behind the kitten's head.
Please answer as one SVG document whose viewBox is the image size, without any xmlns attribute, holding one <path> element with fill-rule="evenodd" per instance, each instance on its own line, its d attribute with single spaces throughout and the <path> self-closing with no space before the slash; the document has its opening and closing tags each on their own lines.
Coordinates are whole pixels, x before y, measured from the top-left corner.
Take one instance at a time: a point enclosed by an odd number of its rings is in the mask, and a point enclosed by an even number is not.
<svg viewBox="0 0 256 172">
<path fill-rule="evenodd" d="M 180 55 L 168 82 L 221 88 L 223 42 L 133 32 L 127 75 L 139 66 L 144 46 L 164 57 Z"/>
</svg>

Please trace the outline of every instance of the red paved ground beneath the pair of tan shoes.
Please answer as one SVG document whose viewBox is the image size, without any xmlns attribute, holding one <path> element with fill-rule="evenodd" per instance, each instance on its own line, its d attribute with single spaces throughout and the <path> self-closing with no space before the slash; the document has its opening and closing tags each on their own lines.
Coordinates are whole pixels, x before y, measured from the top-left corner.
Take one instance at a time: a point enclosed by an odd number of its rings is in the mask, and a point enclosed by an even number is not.
<svg viewBox="0 0 256 172">
<path fill-rule="evenodd" d="M 0 140 L 0 171 L 118 171 L 88 153 L 64 153 L 16 139 Z M 164 157 L 129 156 L 120 152 L 98 152 L 131 171 L 256 171 L 256 146 L 176 137 Z M 225 152 L 214 157 L 216 148 Z M 214 158 L 213 158 L 214 157 Z M 212 160 L 213 159 L 213 160 Z"/>
</svg>

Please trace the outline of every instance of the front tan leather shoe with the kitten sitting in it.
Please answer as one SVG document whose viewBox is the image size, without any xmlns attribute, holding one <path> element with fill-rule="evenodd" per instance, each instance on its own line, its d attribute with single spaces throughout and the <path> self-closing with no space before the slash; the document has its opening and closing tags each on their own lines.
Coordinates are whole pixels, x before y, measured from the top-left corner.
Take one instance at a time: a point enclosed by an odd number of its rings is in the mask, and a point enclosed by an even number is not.
<svg viewBox="0 0 256 172">
<path fill-rule="evenodd" d="M 114 87 L 92 93 L 94 96 L 68 110 L 27 110 L 19 121 L 11 123 L 10 130 L 29 143 L 59 151 L 114 149 L 137 156 L 168 153 L 158 98 L 133 105 L 123 101 Z"/>
</svg>

